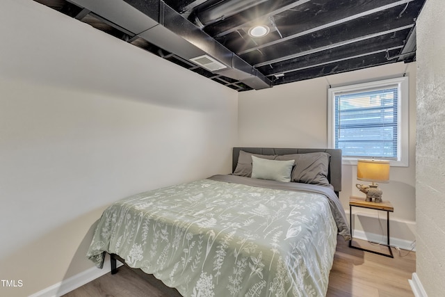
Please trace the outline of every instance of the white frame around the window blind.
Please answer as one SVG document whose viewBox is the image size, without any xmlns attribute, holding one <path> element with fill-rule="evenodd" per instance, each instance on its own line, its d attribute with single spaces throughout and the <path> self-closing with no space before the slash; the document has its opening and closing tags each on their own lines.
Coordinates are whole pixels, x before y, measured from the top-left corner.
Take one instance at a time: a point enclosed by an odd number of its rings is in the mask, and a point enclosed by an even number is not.
<svg viewBox="0 0 445 297">
<path fill-rule="evenodd" d="M 367 83 L 357 83 L 348 86 L 339 86 L 327 90 L 327 143 L 328 147 L 335 148 L 335 96 L 338 93 L 364 92 L 372 88 L 385 88 L 396 85 L 398 88 L 397 102 L 397 160 L 390 160 L 391 166 L 408 167 L 409 166 L 409 78 L 398 77 L 395 79 L 383 79 Z M 357 165 L 357 159 L 371 159 L 372 156 L 343 156 L 343 164 Z"/>
</svg>

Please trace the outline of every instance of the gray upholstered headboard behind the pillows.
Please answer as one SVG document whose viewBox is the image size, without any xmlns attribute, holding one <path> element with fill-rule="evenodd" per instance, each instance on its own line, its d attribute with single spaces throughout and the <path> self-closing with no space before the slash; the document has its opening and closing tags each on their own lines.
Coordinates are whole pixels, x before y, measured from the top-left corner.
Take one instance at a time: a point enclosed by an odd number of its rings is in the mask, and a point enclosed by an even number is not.
<svg viewBox="0 0 445 297">
<path fill-rule="evenodd" d="M 327 179 L 334 186 L 334 191 L 341 191 L 341 150 L 337 149 L 312 149 L 312 148 L 272 148 L 272 147 L 234 147 L 232 155 L 232 172 L 238 163 L 239 151 L 252 154 L 305 154 L 307 152 L 327 152 L 331 155 L 329 174 Z"/>
</svg>

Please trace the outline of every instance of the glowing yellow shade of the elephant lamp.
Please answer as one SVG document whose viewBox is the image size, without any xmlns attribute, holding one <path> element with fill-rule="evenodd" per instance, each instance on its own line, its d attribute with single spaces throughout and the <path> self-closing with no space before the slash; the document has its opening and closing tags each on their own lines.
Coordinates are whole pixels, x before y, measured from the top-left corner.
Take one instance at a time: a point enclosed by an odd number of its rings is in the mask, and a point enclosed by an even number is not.
<svg viewBox="0 0 445 297">
<path fill-rule="evenodd" d="M 358 160 L 357 179 L 365 182 L 389 181 L 389 161 L 381 160 Z"/>
</svg>

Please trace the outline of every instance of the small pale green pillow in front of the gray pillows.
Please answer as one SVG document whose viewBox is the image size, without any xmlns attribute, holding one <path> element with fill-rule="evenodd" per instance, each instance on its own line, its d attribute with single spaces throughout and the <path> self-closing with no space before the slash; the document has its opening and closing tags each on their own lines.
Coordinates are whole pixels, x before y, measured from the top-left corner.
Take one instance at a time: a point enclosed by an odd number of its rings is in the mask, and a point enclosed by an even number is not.
<svg viewBox="0 0 445 297">
<path fill-rule="evenodd" d="M 295 160 L 277 161 L 252 156 L 252 178 L 291 182 L 294 163 Z"/>
</svg>

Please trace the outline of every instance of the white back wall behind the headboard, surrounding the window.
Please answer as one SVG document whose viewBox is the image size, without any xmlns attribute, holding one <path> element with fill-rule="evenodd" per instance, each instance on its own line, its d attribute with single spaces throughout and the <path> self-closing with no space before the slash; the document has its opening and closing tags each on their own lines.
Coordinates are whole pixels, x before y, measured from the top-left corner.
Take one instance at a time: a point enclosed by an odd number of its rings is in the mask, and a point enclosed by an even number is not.
<svg viewBox="0 0 445 297">
<path fill-rule="evenodd" d="M 393 63 L 364 70 L 334 74 L 318 79 L 255 90 L 238 95 L 238 135 L 240 146 L 327 147 L 327 89 L 390 77 L 406 72 L 410 78 L 410 166 L 392 167 L 389 184 L 380 184 L 384 200 L 394 205 L 391 218 L 391 243 L 410 248 L 415 239 L 415 135 L 416 135 L 416 64 Z M 340 200 L 349 211 L 350 195 L 364 197 L 355 188 L 357 166 L 343 165 Z M 378 214 L 353 209 L 357 234 L 382 240 L 386 219 L 378 223 Z M 386 218 L 381 213 L 380 218 Z M 378 234 L 378 236 L 375 236 Z M 377 238 L 375 238 L 377 237 Z"/>
</svg>

